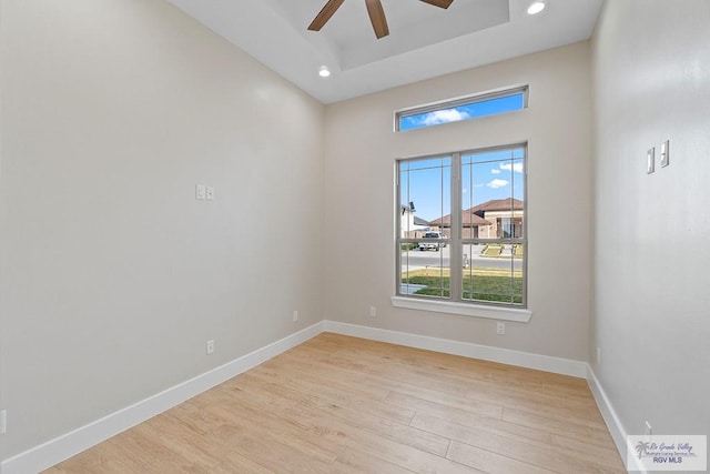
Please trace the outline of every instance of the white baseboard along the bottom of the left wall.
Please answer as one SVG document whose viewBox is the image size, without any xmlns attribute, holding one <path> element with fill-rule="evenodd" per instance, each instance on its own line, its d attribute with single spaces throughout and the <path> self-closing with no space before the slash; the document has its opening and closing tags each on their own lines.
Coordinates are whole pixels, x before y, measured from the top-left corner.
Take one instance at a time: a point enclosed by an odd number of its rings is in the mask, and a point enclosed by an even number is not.
<svg viewBox="0 0 710 474">
<path fill-rule="evenodd" d="M 227 362 L 0 463 L 2 474 L 38 473 L 192 399 L 323 332 L 324 322 Z"/>
</svg>

